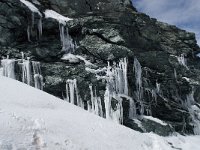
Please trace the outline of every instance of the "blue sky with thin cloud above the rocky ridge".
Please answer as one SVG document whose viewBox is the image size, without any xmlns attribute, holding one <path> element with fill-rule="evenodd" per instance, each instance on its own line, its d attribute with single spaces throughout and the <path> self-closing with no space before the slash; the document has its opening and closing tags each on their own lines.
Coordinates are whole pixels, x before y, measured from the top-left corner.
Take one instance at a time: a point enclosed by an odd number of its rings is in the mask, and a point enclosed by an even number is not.
<svg viewBox="0 0 200 150">
<path fill-rule="evenodd" d="M 132 0 L 138 11 L 196 33 L 200 45 L 200 0 Z"/>
</svg>

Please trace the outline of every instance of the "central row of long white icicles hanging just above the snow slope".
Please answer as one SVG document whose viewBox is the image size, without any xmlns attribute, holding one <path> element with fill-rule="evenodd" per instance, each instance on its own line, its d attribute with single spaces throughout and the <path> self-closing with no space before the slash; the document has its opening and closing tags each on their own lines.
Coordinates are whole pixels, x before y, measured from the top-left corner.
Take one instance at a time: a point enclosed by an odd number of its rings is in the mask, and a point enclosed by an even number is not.
<svg viewBox="0 0 200 150">
<path fill-rule="evenodd" d="M 137 101 L 141 101 L 142 109 L 142 69 L 136 58 L 134 63 L 137 87 L 135 92 L 138 95 Z M 106 75 L 99 77 L 99 79 L 106 80 L 106 90 L 103 97 L 104 101 L 102 101 L 101 97 L 97 96 L 96 88 L 89 85 L 91 100 L 87 101 L 87 104 L 85 105 L 84 101 L 79 96 L 76 79 L 67 80 L 66 82 L 66 100 L 83 109 L 87 109 L 89 112 L 96 115 L 123 124 L 122 101 L 123 98 L 125 98 L 129 101 L 129 118 L 134 119 L 137 116 L 136 105 L 133 98 L 129 96 L 127 69 L 128 60 L 126 58 L 121 59 L 118 64 L 114 63 L 113 66 L 108 63 Z M 115 106 L 112 106 L 113 99 L 117 101 Z M 102 102 L 104 102 L 104 105 Z M 105 110 L 105 113 L 103 110 Z M 141 111 L 143 112 L 143 110 Z"/>
</svg>

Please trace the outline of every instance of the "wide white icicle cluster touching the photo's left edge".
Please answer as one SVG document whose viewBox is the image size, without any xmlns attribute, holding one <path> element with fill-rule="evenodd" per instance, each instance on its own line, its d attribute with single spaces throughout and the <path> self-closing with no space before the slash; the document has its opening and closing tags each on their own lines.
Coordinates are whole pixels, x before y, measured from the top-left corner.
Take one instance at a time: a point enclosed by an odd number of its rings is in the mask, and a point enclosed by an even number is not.
<svg viewBox="0 0 200 150">
<path fill-rule="evenodd" d="M 15 79 L 15 60 L 14 59 L 3 59 L 1 60 L 3 67 L 3 76 Z"/>
</svg>

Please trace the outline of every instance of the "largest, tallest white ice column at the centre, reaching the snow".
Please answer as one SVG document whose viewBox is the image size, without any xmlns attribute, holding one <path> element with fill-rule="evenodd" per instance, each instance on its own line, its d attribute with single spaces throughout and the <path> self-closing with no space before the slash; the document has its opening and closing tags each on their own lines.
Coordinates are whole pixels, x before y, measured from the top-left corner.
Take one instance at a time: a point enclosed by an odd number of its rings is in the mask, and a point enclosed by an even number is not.
<svg viewBox="0 0 200 150">
<path fill-rule="evenodd" d="M 126 58 L 121 59 L 119 64 L 115 64 L 114 67 L 111 67 L 108 62 L 107 77 L 105 78 L 107 82 L 104 94 L 106 118 L 118 123 L 123 123 L 122 98 L 119 94 L 128 95 L 127 64 Z M 117 101 L 115 109 L 111 105 L 113 99 Z M 133 102 L 130 102 L 130 107 L 132 104 Z"/>
</svg>

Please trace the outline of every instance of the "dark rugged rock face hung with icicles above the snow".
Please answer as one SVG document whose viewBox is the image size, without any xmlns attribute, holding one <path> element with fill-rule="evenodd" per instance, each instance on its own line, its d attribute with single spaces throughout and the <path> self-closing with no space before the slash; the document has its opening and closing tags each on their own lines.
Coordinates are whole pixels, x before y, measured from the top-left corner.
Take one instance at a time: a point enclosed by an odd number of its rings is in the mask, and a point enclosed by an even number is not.
<svg viewBox="0 0 200 150">
<path fill-rule="evenodd" d="M 152 116 L 168 122 L 178 132 L 192 133 L 191 118 L 183 103 L 193 89 L 195 101 L 200 102 L 200 58 L 196 56 L 200 51 L 193 33 L 137 12 L 129 0 L 38 1 L 41 5 L 36 6 L 41 12 L 53 9 L 73 18 L 67 27 L 77 43 L 75 54 L 85 56 L 97 67 L 107 66 L 107 61 L 128 58 L 129 93 L 133 98 L 136 57 L 142 66 L 145 102 L 153 101 L 147 89 L 160 85 L 156 102 L 150 103 Z M 31 11 L 18 0 L 1 0 L 0 12 L 1 57 L 9 54 L 11 58 L 20 58 L 23 51 L 32 60 L 40 61 L 44 90 L 55 96 L 65 97 L 66 79 L 76 78 L 84 101 L 90 99 L 89 84 L 96 85 L 98 94 L 103 97 L 105 83 L 86 71 L 81 60 L 77 63 L 61 60 L 63 52 L 57 21 L 43 16 L 43 35 L 39 39 L 37 22 L 40 17 L 35 14 L 31 41 L 28 41 L 27 27 L 33 23 Z M 181 55 L 187 58 L 189 69 L 178 62 Z M 127 109 L 125 107 L 124 111 Z M 124 124 L 130 126 L 127 115 L 125 118 Z"/>
</svg>

